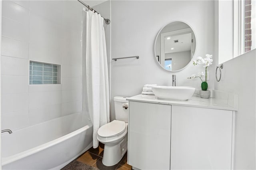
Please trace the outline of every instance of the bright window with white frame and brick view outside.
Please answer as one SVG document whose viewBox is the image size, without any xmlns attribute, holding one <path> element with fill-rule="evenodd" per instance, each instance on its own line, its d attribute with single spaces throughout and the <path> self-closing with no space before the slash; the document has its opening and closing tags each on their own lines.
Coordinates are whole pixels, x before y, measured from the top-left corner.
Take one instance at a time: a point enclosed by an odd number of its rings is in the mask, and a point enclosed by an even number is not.
<svg viewBox="0 0 256 170">
<path fill-rule="evenodd" d="M 219 0 L 215 7 L 218 63 L 255 49 L 256 0 Z"/>
</svg>

